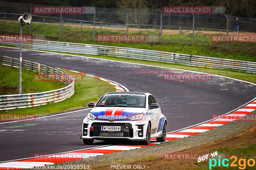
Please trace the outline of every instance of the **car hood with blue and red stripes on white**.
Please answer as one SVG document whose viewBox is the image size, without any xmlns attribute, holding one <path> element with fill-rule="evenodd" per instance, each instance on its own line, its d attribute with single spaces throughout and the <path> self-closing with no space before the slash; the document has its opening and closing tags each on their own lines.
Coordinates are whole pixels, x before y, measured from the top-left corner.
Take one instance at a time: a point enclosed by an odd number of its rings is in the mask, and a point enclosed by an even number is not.
<svg viewBox="0 0 256 170">
<path fill-rule="evenodd" d="M 145 108 L 127 108 L 127 107 L 94 107 L 90 112 L 100 119 L 125 119 L 133 115 L 145 113 Z"/>
</svg>

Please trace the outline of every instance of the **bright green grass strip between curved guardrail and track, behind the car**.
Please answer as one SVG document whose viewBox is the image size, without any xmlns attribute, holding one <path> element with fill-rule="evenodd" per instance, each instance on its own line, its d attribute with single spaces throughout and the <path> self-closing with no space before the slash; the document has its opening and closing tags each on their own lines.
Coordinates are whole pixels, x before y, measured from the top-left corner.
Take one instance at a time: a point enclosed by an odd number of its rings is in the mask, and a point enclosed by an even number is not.
<svg viewBox="0 0 256 170">
<path fill-rule="evenodd" d="M 73 73 L 70 71 L 66 72 Z M 36 115 L 55 113 L 85 107 L 89 102 L 97 101 L 104 93 L 116 91 L 114 86 L 105 81 L 84 74 L 81 74 L 81 76 L 83 76 L 82 81 L 75 81 L 75 93 L 73 96 L 62 102 L 48 103 L 33 108 L 17 108 L 14 110 L 0 111 L 0 113 L 32 113 Z"/>
</svg>

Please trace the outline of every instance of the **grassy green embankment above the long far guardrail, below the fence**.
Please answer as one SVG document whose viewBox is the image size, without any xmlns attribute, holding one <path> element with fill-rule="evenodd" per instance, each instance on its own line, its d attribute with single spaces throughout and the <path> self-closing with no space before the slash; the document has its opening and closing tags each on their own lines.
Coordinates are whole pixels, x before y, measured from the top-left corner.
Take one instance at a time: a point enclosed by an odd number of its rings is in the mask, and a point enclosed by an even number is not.
<svg viewBox="0 0 256 170">
<path fill-rule="evenodd" d="M 8 27 L 8 29 L 6 29 Z M 1 34 L 20 34 L 20 27 L 16 22 L 0 21 Z M 130 30 L 130 31 L 129 31 Z M 175 32 L 169 34 L 167 31 Z M 134 28 L 128 29 L 129 34 L 157 34 L 160 35 L 159 29 L 140 29 L 138 32 Z M 166 32 L 166 33 L 164 33 Z M 219 32 L 204 31 L 203 37 L 201 33 L 196 31 L 194 45 L 192 45 L 192 33 L 188 30 L 182 30 L 181 35 L 176 30 L 163 30 L 162 43 L 148 42 L 148 43 L 132 43 L 132 42 L 97 42 L 93 41 L 93 27 L 83 26 L 82 30 L 80 25 L 64 25 L 61 29 L 60 25 L 45 23 L 32 23 L 31 34 L 44 34 L 46 40 L 75 42 L 85 44 L 98 44 L 106 46 L 120 46 L 131 47 L 148 50 L 166 51 L 173 53 L 184 53 L 191 55 L 201 55 L 207 57 L 228 58 L 234 60 L 256 61 L 256 44 L 255 43 L 229 43 L 228 50 L 226 43 L 213 43 L 211 41 L 212 34 L 219 34 Z M 23 27 L 23 33 L 29 34 L 29 26 Z M 99 34 L 126 34 L 126 28 L 100 28 L 96 27 L 95 35 Z"/>
</svg>

